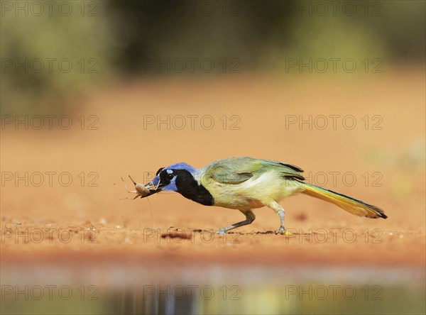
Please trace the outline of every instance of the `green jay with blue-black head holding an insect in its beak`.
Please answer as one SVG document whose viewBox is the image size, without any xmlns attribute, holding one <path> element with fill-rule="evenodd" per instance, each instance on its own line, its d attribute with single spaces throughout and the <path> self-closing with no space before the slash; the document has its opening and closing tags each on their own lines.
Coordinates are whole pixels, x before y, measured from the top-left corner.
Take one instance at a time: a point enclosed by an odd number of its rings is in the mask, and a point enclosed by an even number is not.
<svg viewBox="0 0 426 315">
<path fill-rule="evenodd" d="M 303 182 L 302 172 L 295 165 L 253 157 L 229 157 L 200 169 L 179 162 L 160 168 L 146 185 L 133 182 L 133 193 L 143 198 L 162 191 L 178 192 L 204 206 L 237 209 L 246 216 L 244 221 L 219 228 L 219 234 L 252 223 L 256 219 L 253 209 L 263 206 L 280 217 L 280 228 L 275 233 L 285 233 L 284 209 L 278 202 L 298 193 L 331 202 L 356 216 L 387 218 L 376 206 Z"/>
</svg>

